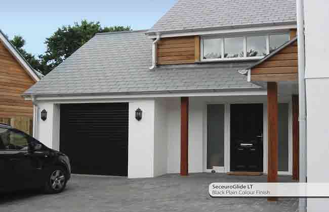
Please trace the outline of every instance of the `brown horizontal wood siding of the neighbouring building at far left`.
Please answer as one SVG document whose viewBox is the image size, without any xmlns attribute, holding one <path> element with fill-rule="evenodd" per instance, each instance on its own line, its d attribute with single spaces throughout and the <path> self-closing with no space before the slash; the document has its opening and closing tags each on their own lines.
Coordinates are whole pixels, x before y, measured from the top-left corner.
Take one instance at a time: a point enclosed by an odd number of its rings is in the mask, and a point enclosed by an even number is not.
<svg viewBox="0 0 329 212">
<path fill-rule="evenodd" d="M 0 117 L 32 117 L 33 106 L 21 95 L 34 80 L 0 42 Z"/>
</svg>

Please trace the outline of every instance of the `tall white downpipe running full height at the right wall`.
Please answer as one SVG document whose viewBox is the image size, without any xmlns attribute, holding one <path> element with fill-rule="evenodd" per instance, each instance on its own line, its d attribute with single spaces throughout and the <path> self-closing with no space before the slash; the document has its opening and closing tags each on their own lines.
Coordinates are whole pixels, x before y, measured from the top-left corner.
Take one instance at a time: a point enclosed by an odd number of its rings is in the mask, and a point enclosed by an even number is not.
<svg viewBox="0 0 329 212">
<path fill-rule="evenodd" d="M 298 94 L 299 94 L 299 182 L 306 182 L 306 88 L 305 88 L 305 34 L 304 0 L 296 0 L 298 36 Z M 306 199 L 300 198 L 299 211 L 306 211 Z"/>
</svg>

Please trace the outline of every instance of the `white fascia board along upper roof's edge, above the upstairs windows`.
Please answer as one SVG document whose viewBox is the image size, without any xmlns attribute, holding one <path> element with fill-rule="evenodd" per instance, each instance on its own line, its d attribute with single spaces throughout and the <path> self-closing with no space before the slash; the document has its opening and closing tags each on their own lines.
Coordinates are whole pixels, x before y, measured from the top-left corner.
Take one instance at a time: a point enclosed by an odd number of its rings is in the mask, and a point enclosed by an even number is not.
<svg viewBox="0 0 329 212">
<path fill-rule="evenodd" d="M 190 32 L 161 32 L 161 37 L 181 37 L 181 36 L 193 36 L 193 35 L 211 35 L 211 34 L 226 34 L 226 33 L 236 33 L 236 32 L 268 32 L 277 30 L 289 30 L 296 29 L 296 24 L 284 24 L 284 25 L 272 25 L 272 26 L 253 26 L 253 27 L 243 27 L 243 28 L 229 28 L 229 29 L 217 29 L 217 30 L 199 30 Z M 148 33 L 146 33 L 148 34 Z M 156 38 L 155 34 L 148 34 L 148 37 L 153 39 Z"/>
</svg>

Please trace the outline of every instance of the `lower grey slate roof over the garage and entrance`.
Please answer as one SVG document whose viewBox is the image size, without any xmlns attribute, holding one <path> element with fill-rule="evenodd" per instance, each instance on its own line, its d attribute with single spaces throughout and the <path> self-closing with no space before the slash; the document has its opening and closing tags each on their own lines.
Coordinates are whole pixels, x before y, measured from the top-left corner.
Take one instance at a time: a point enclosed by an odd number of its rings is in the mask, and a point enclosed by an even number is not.
<svg viewBox="0 0 329 212">
<path fill-rule="evenodd" d="M 159 66 L 146 31 L 96 34 L 25 94 L 90 94 L 258 88 L 237 70 L 250 62 Z"/>
</svg>

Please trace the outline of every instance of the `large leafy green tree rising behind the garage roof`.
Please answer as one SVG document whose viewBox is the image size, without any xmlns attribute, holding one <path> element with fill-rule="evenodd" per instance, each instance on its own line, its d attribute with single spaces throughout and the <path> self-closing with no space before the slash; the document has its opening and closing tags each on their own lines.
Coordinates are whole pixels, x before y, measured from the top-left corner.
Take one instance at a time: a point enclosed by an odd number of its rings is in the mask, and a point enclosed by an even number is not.
<svg viewBox="0 0 329 212">
<path fill-rule="evenodd" d="M 73 26 L 62 26 L 50 37 L 46 38 L 47 49 L 44 55 L 39 56 L 40 65 L 44 68 L 43 74 L 49 73 L 56 66 L 70 57 L 74 51 L 89 41 L 99 32 L 129 31 L 130 26 L 113 26 L 102 28 L 99 22 L 75 22 Z"/>
</svg>

